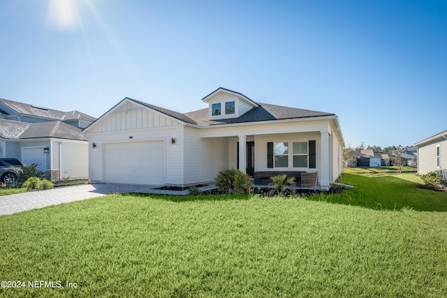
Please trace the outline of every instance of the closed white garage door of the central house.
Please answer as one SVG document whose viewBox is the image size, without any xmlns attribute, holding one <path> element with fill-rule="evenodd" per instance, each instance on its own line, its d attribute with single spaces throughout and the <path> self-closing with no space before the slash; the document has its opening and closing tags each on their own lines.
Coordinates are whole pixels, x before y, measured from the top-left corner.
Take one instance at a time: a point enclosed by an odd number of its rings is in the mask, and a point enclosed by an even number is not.
<svg viewBox="0 0 447 298">
<path fill-rule="evenodd" d="M 163 141 L 105 144 L 105 182 L 164 184 Z"/>
</svg>

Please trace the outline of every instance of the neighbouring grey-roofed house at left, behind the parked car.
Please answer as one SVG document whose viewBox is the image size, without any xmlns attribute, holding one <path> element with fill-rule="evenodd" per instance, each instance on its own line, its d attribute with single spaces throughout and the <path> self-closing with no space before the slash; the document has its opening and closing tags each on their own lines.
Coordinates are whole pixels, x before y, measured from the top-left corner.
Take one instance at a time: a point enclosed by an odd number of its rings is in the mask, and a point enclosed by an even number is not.
<svg viewBox="0 0 447 298">
<path fill-rule="evenodd" d="M 0 156 L 38 163 L 47 179 L 87 179 L 88 140 L 82 128 L 95 120 L 78 111 L 0 98 Z"/>
</svg>

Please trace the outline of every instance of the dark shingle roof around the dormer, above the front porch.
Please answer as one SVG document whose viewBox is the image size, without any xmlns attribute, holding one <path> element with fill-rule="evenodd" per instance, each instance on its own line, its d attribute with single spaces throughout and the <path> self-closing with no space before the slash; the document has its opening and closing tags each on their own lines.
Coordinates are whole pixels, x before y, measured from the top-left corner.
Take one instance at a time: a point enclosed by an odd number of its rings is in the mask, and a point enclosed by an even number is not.
<svg viewBox="0 0 447 298">
<path fill-rule="evenodd" d="M 270 105 L 267 103 L 258 103 L 258 107 L 254 107 L 241 117 L 233 119 L 219 119 L 210 120 L 208 109 L 202 109 L 198 111 L 193 111 L 186 113 L 185 115 L 197 123 L 207 123 L 207 124 L 233 124 L 233 123 L 245 123 L 245 122 L 256 122 L 256 121 L 270 121 L 270 120 L 281 120 L 281 119 L 297 119 L 297 118 L 308 118 L 308 117 L 322 117 L 322 116 L 332 116 L 335 114 L 318 112 L 312 110 L 303 110 L 295 107 L 284 107 L 281 105 Z"/>
</svg>

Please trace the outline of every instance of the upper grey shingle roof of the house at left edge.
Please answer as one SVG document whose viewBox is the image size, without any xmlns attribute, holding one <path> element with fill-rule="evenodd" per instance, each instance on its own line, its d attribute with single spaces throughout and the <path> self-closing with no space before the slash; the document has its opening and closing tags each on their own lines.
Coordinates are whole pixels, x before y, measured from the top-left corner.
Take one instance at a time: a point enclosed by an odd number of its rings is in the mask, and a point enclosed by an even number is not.
<svg viewBox="0 0 447 298">
<path fill-rule="evenodd" d="M 19 103 L 13 100 L 7 100 L 0 98 L 0 103 L 10 107 L 10 109 L 15 110 L 15 112 L 19 114 L 27 114 L 36 117 L 43 117 L 48 119 L 55 120 L 68 120 L 68 119 L 81 119 L 87 121 L 94 121 L 95 118 L 91 117 L 87 114 L 71 111 L 71 112 L 62 112 L 58 110 L 52 110 L 47 107 L 39 107 L 37 105 L 29 105 L 28 103 Z"/>
</svg>

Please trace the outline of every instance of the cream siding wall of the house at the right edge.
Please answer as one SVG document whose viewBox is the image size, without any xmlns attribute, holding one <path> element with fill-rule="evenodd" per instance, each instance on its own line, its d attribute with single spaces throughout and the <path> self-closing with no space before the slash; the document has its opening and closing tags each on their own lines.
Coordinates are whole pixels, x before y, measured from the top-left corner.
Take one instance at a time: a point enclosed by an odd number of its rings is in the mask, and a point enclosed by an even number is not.
<svg viewBox="0 0 447 298">
<path fill-rule="evenodd" d="M 440 150 L 440 167 L 437 167 L 437 145 Z M 447 169 L 447 140 L 437 140 L 418 147 L 418 174 Z"/>
</svg>

